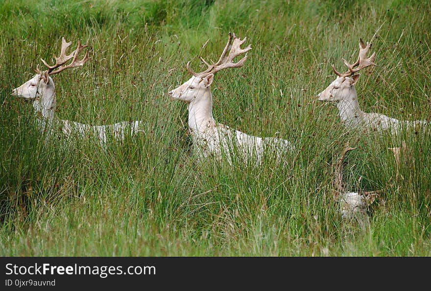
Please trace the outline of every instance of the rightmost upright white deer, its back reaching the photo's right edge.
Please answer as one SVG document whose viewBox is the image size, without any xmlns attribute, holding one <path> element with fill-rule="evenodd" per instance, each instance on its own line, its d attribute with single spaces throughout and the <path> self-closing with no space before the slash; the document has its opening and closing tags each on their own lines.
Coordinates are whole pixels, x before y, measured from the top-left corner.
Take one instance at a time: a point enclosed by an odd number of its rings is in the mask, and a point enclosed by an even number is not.
<svg viewBox="0 0 431 291">
<path fill-rule="evenodd" d="M 319 101 L 336 102 L 338 113 L 341 122 L 347 127 L 356 127 L 359 129 L 371 129 L 374 131 L 391 130 L 393 133 L 398 133 L 403 127 L 415 125 L 426 125 L 427 121 L 399 121 L 378 113 L 363 112 L 358 103 L 358 95 L 356 93 L 355 84 L 359 79 L 359 74 L 354 74 L 368 66 L 376 66 L 374 61 L 375 53 L 367 58 L 366 54 L 370 49 L 371 44 L 364 44 L 359 41 L 359 57 L 353 64 L 349 64 L 343 59 L 344 64 L 348 67 L 345 73 L 338 73 L 334 65 L 332 69 L 337 75 L 336 79 L 321 93 L 317 95 Z M 357 68 L 355 68 L 358 66 Z"/>
</svg>

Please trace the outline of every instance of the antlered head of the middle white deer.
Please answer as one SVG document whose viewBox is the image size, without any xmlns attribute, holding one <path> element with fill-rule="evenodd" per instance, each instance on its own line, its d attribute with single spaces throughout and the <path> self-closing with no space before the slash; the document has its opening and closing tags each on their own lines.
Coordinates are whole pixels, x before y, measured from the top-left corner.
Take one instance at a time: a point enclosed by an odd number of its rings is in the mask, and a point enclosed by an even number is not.
<svg viewBox="0 0 431 291">
<path fill-rule="evenodd" d="M 245 49 L 240 48 L 240 46 L 245 42 L 245 40 L 246 38 L 241 40 L 235 36 L 235 33 L 229 32 L 228 42 L 219 60 L 216 63 L 212 63 L 210 65 L 201 57 L 200 59 L 202 60 L 202 62 L 204 62 L 205 65 L 207 65 L 208 68 L 200 73 L 193 72 L 190 68 L 190 62 L 188 62 L 186 67 L 189 73 L 192 74 L 192 77 L 181 86 L 170 91 L 168 93 L 168 96 L 171 99 L 182 100 L 187 103 L 202 98 L 202 93 L 210 91 L 210 86 L 214 80 L 214 74 L 216 72 L 226 68 L 239 68 L 244 65 L 244 62 L 247 59 L 247 55 L 245 55 L 237 63 L 234 63 L 233 60 L 235 59 L 235 57 L 246 53 L 251 49 L 250 45 Z M 229 54 L 226 56 L 228 52 Z"/>
</svg>

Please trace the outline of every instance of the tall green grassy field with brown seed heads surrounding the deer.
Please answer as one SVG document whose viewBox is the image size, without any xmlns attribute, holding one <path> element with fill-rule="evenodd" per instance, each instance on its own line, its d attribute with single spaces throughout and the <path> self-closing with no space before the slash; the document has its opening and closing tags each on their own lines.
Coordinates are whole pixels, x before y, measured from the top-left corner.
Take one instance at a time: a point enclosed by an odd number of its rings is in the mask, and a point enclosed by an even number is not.
<svg viewBox="0 0 431 291">
<path fill-rule="evenodd" d="M 356 85 L 365 112 L 430 120 L 431 4 L 427 1 L 60 1 L 0 5 L 0 255 L 430 256 L 430 133 L 349 131 L 316 101 L 373 39 L 378 67 Z M 167 92 L 186 63 L 216 60 L 228 32 L 252 44 L 240 69 L 217 73 L 216 121 L 299 149 L 284 165 L 210 162 L 191 154 L 187 106 Z M 53 79 L 57 117 L 146 122 L 145 134 L 68 148 L 44 145 L 31 103 L 10 96 L 51 60 L 61 37 L 93 59 Z M 202 49 L 203 45 L 207 45 Z M 387 147 L 407 142 L 396 173 Z M 332 197 L 343 145 L 352 190 L 384 192 L 369 222 L 343 221 Z M 360 181 L 359 178 L 361 177 Z"/>
</svg>

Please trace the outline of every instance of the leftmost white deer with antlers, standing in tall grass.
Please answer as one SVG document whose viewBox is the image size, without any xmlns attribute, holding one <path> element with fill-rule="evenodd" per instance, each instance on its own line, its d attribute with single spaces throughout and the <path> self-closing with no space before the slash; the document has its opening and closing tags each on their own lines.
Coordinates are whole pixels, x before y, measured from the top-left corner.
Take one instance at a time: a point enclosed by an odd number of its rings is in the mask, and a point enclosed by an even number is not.
<svg viewBox="0 0 431 291">
<path fill-rule="evenodd" d="M 96 136 L 101 145 L 106 144 L 108 133 L 112 134 L 117 141 L 122 141 L 126 133 L 134 135 L 141 131 L 139 128 L 142 125 L 142 121 L 123 121 L 109 125 L 92 126 L 55 118 L 55 88 L 50 76 L 66 69 L 82 67 L 90 59 L 87 51 L 84 58 L 78 61 L 80 51 L 87 47 L 87 45 L 82 46 L 79 40 L 78 47 L 70 55 L 67 55 L 66 51 L 71 45 L 72 42 L 66 42 L 63 37 L 60 56 L 54 56 L 55 65 L 50 66 L 45 60 L 41 59 L 44 65 L 48 67 L 48 70 L 42 72 L 39 70 L 39 67 L 36 70 L 33 69 L 36 75 L 12 91 L 12 95 L 34 100 L 33 108 L 37 126 L 41 133 L 46 134 L 46 140 L 53 133 L 54 128 L 59 128 L 67 138 L 72 136 L 81 138 Z M 72 62 L 69 65 L 65 65 L 71 59 Z"/>
</svg>

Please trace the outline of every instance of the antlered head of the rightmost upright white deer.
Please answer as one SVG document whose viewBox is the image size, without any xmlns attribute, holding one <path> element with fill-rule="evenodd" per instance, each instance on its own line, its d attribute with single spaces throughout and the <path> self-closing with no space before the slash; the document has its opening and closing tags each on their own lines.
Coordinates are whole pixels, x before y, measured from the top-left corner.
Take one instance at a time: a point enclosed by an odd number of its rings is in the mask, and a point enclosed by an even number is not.
<svg viewBox="0 0 431 291">
<path fill-rule="evenodd" d="M 345 59 L 342 59 L 348 68 L 345 73 L 338 73 L 335 70 L 334 65 L 332 65 L 332 69 L 337 77 L 325 90 L 317 95 L 319 101 L 340 101 L 341 99 L 349 96 L 352 87 L 359 79 L 359 74 L 355 73 L 366 67 L 376 66 L 376 64 L 373 63 L 375 53 L 373 53 L 369 58 L 366 57 L 366 54 L 370 48 L 371 44 L 367 43 L 365 45 L 362 39 L 360 39 L 358 60 L 351 65 Z"/>
</svg>

